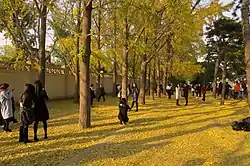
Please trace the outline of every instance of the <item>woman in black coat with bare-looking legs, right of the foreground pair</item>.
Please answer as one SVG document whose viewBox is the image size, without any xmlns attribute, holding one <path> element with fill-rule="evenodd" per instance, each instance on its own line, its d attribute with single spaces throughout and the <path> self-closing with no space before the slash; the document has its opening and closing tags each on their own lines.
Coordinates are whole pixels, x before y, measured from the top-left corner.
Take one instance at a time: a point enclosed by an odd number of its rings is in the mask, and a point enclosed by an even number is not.
<svg viewBox="0 0 250 166">
<path fill-rule="evenodd" d="M 47 120 L 49 119 L 49 111 L 46 105 L 46 100 L 49 100 L 47 92 L 42 86 L 41 81 L 37 80 L 34 83 L 35 85 L 35 123 L 34 123 L 34 141 L 38 141 L 37 138 L 37 129 L 39 122 L 43 122 L 44 129 L 44 139 L 47 139 Z"/>
</svg>

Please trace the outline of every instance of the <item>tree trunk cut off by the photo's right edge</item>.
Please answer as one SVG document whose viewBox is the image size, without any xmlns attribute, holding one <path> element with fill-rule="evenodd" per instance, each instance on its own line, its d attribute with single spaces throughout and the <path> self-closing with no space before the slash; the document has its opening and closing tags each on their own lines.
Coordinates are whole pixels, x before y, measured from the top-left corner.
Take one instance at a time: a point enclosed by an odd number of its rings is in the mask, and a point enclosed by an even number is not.
<svg viewBox="0 0 250 166">
<path fill-rule="evenodd" d="M 242 22 L 243 22 L 243 36 L 244 36 L 244 53 L 247 74 L 247 92 L 248 92 L 248 106 L 250 108 L 250 24 L 249 24 L 249 0 L 242 0 Z"/>
</svg>

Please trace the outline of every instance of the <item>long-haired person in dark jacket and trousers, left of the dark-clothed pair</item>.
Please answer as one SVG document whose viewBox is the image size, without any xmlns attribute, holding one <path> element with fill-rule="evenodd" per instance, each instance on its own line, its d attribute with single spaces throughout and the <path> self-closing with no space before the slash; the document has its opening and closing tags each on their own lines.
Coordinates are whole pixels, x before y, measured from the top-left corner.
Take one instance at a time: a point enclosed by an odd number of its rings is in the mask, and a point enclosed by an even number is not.
<svg viewBox="0 0 250 166">
<path fill-rule="evenodd" d="M 20 97 L 20 128 L 19 128 L 19 142 L 29 143 L 28 128 L 35 120 L 34 107 L 35 96 L 34 88 L 31 84 L 26 84 L 24 92 Z M 37 138 L 36 138 L 37 139 Z"/>
</svg>

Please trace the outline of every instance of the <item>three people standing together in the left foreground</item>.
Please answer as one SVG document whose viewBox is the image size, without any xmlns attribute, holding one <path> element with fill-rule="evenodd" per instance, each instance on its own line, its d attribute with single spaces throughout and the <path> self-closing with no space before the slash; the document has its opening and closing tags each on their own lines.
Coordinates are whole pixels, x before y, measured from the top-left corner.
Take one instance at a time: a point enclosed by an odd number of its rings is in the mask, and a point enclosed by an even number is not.
<svg viewBox="0 0 250 166">
<path fill-rule="evenodd" d="M 32 84 L 25 84 L 24 91 L 21 94 L 20 104 L 20 128 L 19 142 L 29 143 L 28 128 L 34 123 L 34 141 L 38 141 L 37 130 L 40 121 L 43 122 L 44 138 L 47 139 L 47 120 L 49 119 L 49 111 L 46 105 L 48 95 L 42 86 L 42 83 L 37 80 Z M 9 90 L 9 85 L 4 83 L 0 86 L 0 104 L 1 116 L 4 122 L 3 130 L 12 132 L 9 128 L 9 123 L 14 119 L 14 101 L 12 91 Z"/>
</svg>

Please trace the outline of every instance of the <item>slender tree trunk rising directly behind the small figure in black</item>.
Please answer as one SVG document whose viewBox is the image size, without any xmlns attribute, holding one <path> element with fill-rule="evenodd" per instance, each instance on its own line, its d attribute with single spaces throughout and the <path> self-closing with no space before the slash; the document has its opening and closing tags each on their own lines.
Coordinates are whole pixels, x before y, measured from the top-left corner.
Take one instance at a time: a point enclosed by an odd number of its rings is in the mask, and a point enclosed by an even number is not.
<svg viewBox="0 0 250 166">
<path fill-rule="evenodd" d="M 123 63 L 122 63 L 122 98 L 127 99 L 127 86 L 128 86 L 128 16 L 124 19 L 124 35 L 125 42 L 123 46 Z"/>
</svg>

